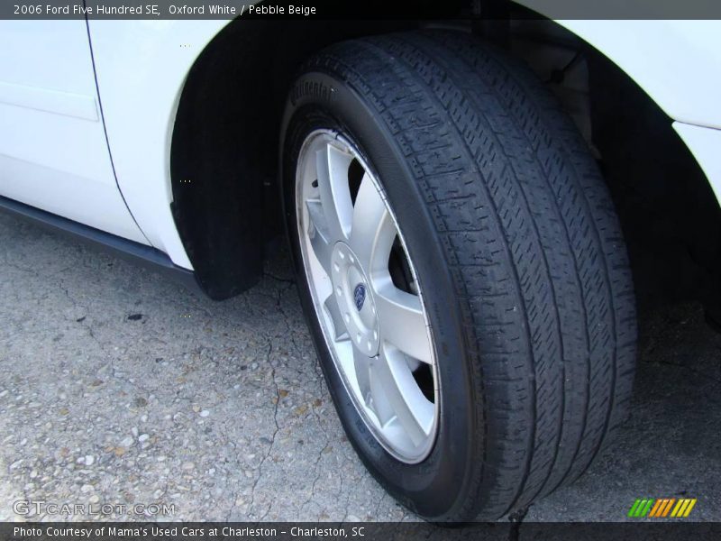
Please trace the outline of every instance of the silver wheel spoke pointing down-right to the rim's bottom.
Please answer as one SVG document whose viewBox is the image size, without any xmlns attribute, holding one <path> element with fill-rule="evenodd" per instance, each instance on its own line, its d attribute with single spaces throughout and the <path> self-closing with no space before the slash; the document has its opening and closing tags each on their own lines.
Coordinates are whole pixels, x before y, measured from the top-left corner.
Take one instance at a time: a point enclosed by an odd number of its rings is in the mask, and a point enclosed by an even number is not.
<svg viewBox="0 0 721 541">
<path fill-rule="evenodd" d="M 373 362 L 372 380 L 379 382 L 383 401 L 393 410 L 391 420 L 397 421 L 414 445 L 421 444 L 433 427 L 434 404 L 424 397 L 403 354 L 393 347 L 384 347 Z M 376 399 L 378 390 L 374 391 Z"/>
</svg>

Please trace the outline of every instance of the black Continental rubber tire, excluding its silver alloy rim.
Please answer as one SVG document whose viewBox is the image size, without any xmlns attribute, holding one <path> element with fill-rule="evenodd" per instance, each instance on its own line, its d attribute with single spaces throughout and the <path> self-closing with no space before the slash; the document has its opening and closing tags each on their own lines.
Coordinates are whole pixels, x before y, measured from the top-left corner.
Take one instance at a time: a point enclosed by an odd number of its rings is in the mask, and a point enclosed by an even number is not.
<svg viewBox="0 0 721 541">
<path fill-rule="evenodd" d="M 422 460 L 379 441 L 314 301 L 298 160 L 318 131 L 351 142 L 415 269 L 438 388 Z M 342 426 L 383 487 L 426 519 L 464 521 L 503 517 L 578 478 L 626 417 L 634 291 L 604 180 L 543 85 L 460 32 L 342 42 L 306 62 L 281 144 L 308 326 Z"/>
</svg>

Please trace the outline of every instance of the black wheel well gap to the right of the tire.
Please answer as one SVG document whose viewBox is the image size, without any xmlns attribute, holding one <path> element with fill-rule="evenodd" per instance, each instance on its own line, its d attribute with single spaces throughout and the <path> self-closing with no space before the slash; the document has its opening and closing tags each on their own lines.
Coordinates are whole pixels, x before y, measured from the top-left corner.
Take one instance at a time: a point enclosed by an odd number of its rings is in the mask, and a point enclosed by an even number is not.
<svg viewBox="0 0 721 541">
<path fill-rule="evenodd" d="M 549 20 L 510 25 L 510 50 L 560 99 L 596 156 L 624 229 L 640 307 L 721 299 L 721 209 L 673 120 L 603 54 Z"/>
</svg>

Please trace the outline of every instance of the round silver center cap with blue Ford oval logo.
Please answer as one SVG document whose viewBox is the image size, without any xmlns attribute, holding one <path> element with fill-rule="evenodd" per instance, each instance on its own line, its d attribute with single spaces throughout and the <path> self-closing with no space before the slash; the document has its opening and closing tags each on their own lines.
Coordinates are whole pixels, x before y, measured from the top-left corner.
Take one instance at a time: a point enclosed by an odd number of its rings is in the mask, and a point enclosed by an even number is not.
<svg viewBox="0 0 721 541">
<path fill-rule="evenodd" d="M 336 243 L 333 247 L 331 280 L 348 335 L 360 352 L 375 357 L 379 350 L 376 305 L 366 272 L 346 243 Z"/>
</svg>

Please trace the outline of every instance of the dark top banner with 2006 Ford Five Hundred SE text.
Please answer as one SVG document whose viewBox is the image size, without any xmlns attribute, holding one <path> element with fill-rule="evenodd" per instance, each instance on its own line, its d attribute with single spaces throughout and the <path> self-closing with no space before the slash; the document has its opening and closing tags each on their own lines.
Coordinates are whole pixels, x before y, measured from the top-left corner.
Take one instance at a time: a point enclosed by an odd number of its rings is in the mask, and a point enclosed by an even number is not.
<svg viewBox="0 0 721 541">
<path fill-rule="evenodd" d="M 4 0 L 0 19 L 714 19 L 719 0 Z"/>
</svg>

